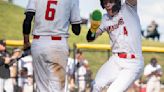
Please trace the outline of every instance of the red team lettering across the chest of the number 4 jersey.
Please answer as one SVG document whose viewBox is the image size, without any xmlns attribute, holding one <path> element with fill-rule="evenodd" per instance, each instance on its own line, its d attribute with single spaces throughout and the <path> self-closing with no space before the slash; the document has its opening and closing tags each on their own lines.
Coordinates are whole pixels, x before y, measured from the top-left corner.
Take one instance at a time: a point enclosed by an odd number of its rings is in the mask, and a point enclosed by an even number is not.
<svg viewBox="0 0 164 92">
<path fill-rule="evenodd" d="M 120 26 L 120 25 L 123 25 L 123 24 L 124 24 L 124 20 L 123 20 L 123 18 L 121 17 L 121 18 L 118 20 L 118 22 L 117 22 L 116 24 L 107 26 L 107 27 L 105 28 L 105 30 L 111 32 L 111 31 L 114 31 L 115 29 L 118 29 L 119 26 Z"/>
</svg>

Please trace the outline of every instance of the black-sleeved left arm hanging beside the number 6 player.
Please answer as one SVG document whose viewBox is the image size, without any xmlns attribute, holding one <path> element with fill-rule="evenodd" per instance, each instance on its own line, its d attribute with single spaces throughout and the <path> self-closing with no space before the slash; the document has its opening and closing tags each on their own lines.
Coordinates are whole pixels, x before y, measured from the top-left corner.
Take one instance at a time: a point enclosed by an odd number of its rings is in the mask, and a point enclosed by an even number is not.
<svg viewBox="0 0 164 92">
<path fill-rule="evenodd" d="M 23 37 L 24 37 L 24 49 L 30 47 L 29 34 L 31 31 L 32 19 L 35 15 L 35 12 L 26 12 L 25 19 L 23 21 Z"/>
</svg>

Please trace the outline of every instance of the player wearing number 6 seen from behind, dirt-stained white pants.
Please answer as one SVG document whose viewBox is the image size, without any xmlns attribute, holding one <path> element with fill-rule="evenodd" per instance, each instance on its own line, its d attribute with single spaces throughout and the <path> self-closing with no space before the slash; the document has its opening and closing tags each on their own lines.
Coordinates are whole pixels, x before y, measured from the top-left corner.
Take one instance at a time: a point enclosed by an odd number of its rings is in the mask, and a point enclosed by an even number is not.
<svg viewBox="0 0 164 92">
<path fill-rule="evenodd" d="M 30 47 L 33 17 L 33 57 L 37 92 L 63 92 L 68 58 L 68 28 L 80 34 L 79 0 L 29 0 L 23 22 L 24 48 Z"/>
</svg>

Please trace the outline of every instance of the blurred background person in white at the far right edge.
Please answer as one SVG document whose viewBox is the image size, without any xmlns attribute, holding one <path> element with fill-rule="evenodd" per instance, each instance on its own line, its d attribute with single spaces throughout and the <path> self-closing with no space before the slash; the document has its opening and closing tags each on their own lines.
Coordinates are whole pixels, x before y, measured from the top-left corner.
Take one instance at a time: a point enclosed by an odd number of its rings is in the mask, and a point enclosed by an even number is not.
<svg viewBox="0 0 164 92">
<path fill-rule="evenodd" d="M 161 65 L 157 63 L 156 58 L 152 58 L 150 64 L 145 66 L 144 75 L 147 78 L 146 92 L 160 92 L 162 68 Z"/>
</svg>

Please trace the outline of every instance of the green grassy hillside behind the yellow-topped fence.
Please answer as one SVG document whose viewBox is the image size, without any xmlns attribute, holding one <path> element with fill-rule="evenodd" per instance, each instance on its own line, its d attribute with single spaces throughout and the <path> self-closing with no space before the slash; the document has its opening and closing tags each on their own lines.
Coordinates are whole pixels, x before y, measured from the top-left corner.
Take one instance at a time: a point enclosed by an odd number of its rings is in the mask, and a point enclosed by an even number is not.
<svg viewBox="0 0 164 92">
<path fill-rule="evenodd" d="M 22 40 L 22 23 L 24 19 L 24 9 L 18 6 L 6 3 L 0 0 L 0 39 L 9 39 L 9 40 Z M 71 28 L 71 27 L 70 27 Z M 86 33 L 88 28 L 85 25 L 82 25 L 82 31 L 80 36 L 75 36 L 71 30 L 70 37 L 68 39 L 70 48 L 73 48 L 74 43 L 88 43 L 86 41 Z M 96 39 L 96 41 L 91 42 L 90 44 L 108 44 L 109 37 L 107 33 L 104 33 L 101 37 Z M 157 46 L 164 47 L 164 43 L 151 40 L 143 40 L 143 46 Z M 97 70 L 100 66 L 107 61 L 108 52 L 105 51 L 91 51 L 84 50 L 84 56 L 89 61 L 93 75 L 95 76 Z M 158 62 L 162 65 L 164 71 L 164 53 L 144 53 L 144 61 L 147 64 L 152 57 L 156 57 Z M 71 53 L 72 56 L 72 53 Z M 162 77 L 164 82 L 164 77 Z"/>
</svg>

